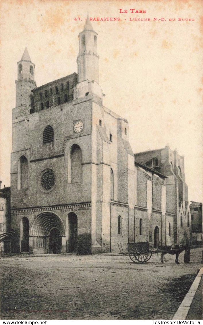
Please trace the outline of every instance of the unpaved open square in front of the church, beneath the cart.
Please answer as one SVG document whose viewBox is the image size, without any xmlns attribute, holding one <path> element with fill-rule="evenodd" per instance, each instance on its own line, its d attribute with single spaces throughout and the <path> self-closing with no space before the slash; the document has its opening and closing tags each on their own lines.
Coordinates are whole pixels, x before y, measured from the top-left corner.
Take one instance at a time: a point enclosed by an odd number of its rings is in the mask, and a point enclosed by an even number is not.
<svg viewBox="0 0 203 325">
<path fill-rule="evenodd" d="M 9 257 L 1 265 L 1 319 L 172 319 L 201 264 L 152 255 L 145 264 L 128 256 Z"/>
</svg>

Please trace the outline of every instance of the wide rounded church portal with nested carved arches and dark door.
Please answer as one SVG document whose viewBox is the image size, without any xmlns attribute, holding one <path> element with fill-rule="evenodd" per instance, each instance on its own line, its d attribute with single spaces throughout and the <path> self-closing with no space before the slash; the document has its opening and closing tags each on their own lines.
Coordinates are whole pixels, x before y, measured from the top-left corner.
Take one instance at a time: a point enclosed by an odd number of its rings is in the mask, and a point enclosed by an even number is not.
<svg viewBox="0 0 203 325">
<path fill-rule="evenodd" d="M 30 237 L 36 253 L 61 253 L 61 237 L 65 228 L 61 219 L 54 213 L 44 212 L 32 222 Z"/>
</svg>

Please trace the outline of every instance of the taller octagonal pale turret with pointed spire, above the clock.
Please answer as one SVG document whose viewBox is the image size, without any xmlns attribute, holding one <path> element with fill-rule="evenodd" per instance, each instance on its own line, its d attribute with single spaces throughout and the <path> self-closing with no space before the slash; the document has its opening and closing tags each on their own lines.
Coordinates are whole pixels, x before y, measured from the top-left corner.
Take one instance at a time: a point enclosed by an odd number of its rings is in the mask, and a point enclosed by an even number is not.
<svg viewBox="0 0 203 325">
<path fill-rule="evenodd" d="M 99 56 L 97 55 L 97 33 L 93 30 L 89 14 L 83 31 L 79 34 L 78 83 L 89 80 L 99 84 Z"/>
</svg>

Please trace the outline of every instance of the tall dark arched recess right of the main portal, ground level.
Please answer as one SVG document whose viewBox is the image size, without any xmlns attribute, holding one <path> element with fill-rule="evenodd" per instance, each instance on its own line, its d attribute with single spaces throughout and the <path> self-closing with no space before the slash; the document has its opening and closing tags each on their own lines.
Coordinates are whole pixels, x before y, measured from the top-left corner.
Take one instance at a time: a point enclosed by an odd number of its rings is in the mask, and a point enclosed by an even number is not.
<svg viewBox="0 0 203 325">
<path fill-rule="evenodd" d="M 77 253 L 78 244 L 78 218 L 73 212 L 68 214 L 69 224 L 69 253 Z"/>
</svg>

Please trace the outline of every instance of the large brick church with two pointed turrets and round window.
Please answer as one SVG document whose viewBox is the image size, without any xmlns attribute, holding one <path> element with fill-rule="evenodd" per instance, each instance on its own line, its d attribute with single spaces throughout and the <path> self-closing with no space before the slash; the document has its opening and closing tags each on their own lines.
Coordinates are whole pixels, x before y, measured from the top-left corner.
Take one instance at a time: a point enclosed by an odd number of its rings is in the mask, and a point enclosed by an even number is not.
<svg viewBox="0 0 203 325">
<path fill-rule="evenodd" d="M 97 33 L 89 19 L 79 34 L 77 64 L 78 74 L 36 87 L 27 48 L 18 62 L 11 251 L 102 253 L 132 241 L 152 247 L 189 241 L 184 159 L 179 175 L 166 154 L 157 158 L 159 168 L 134 155 L 128 122 L 102 104 Z M 183 221 L 189 213 L 187 227 L 179 225 L 181 213 Z"/>
</svg>

